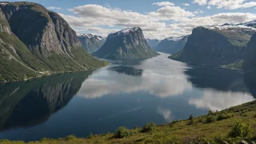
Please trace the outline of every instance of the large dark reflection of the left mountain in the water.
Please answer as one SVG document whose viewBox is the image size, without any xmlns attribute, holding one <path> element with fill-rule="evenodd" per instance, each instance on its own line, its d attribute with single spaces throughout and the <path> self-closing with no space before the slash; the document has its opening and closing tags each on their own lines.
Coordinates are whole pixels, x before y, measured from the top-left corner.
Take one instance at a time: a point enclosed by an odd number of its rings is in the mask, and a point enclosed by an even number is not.
<svg viewBox="0 0 256 144">
<path fill-rule="evenodd" d="M 0 129 L 40 124 L 79 91 L 92 71 L 60 73 L 29 81 L 0 84 Z"/>
</svg>

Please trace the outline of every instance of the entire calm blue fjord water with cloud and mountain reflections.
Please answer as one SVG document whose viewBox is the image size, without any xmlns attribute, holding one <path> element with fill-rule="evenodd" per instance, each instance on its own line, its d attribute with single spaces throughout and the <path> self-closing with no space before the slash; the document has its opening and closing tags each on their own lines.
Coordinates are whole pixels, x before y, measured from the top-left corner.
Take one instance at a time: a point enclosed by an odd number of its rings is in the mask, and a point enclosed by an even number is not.
<svg viewBox="0 0 256 144">
<path fill-rule="evenodd" d="M 1 84 L 0 139 L 87 137 L 255 100 L 255 79 L 241 71 L 186 65 L 167 56 Z"/>
</svg>

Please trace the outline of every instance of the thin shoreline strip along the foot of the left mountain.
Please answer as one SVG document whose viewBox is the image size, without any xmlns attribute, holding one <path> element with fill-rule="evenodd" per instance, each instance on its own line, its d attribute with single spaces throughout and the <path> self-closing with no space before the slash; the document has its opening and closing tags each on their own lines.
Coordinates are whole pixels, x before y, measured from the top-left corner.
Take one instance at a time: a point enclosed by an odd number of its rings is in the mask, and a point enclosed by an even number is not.
<svg viewBox="0 0 256 144">
<path fill-rule="evenodd" d="M 107 61 L 108 62 L 108 61 Z M 108 65 L 111 65 L 110 62 L 108 62 Z M 93 68 L 93 69 L 89 69 L 89 70 L 80 70 L 80 71 L 95 71 L 95 70 L 98 70 L 100 68 L 104 68 L 108 65 L 103 65 L 103 66 L 100 66 L 98 68 Z M 47 74 L 41 74 L 39 76 L 36 76 L 36 77 L 31 77 L 31 78 L 28 78 L 28 79 L 20 79 L 20 80 L 16 80 L 16 81 L 0 81 L 0 84 L 7 84 L 7 83 L 11 83 L 11 82 L 19 82 L 19 81 L 28 81 L 28 80 L 31 80 L 31 79 L 36 79 L 36 78 L 40 78 L 40 77 L 43 77 L 43 76 L 51 76 L 53 74 L 58 74 L 58 73 L 73 73 L 73 72 L 79 72 L 79 71 L 59 71 L 59 72 L 52 72 L 52 73 L 47 73 Z M 37 72 L 39 73 L 39 72 Z"/>
</svg>

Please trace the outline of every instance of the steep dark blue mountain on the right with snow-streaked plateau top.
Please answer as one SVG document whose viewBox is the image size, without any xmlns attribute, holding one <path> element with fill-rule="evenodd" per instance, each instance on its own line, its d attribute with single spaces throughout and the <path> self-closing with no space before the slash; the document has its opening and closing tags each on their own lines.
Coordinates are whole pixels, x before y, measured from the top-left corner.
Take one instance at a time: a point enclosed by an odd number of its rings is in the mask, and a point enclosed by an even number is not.
<svg viewBox="0 0 256 144">
<path fill-rule="evenodd" d="M 244 25 L 220 25 L 194 28 L 182 51 L 169 58 L 185 63 L 227 65 L 244 55 L 247 42 L 256 28 Z"/>
</svg>

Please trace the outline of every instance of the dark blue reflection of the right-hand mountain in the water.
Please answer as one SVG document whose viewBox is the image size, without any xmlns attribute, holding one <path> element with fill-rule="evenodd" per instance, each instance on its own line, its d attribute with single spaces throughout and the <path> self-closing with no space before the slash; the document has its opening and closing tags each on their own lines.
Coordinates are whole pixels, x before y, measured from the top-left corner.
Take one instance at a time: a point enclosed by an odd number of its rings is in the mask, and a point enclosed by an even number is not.
<svg viewBox="0 0 256 144">
<path fill-rule="evenodd" d="M 185 74 L 188 75 L 188 81 L 191 81 L 193 87 L 212 88 L 223 92 L 249 92 L 244 84 L 242 71 L 193 65 Z"/>
</svg>

